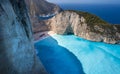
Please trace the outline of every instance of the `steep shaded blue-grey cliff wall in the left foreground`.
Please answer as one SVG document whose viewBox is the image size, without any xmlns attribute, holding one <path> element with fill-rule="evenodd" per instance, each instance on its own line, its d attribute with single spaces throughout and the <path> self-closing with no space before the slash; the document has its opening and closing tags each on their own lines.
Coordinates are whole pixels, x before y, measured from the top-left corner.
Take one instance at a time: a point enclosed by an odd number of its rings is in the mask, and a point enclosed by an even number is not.
<svg viewBox="0 0 120 74">
<path fill-rule="evenodd" d="M 46 74 L 32 40 L 24 0 L 0 0 L 0 74 Z"/>
</svg>

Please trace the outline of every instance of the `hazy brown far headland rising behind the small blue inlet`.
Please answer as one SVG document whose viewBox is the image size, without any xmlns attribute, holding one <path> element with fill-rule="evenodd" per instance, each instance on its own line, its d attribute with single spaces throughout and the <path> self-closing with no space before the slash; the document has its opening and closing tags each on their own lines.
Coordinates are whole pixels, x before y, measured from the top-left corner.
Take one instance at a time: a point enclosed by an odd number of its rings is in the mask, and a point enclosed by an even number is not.
<svg viewBox="0 0 120 74">
<path fill-rule="evenodd" d="M 49 3 L 46 0 L 25 0 L 28 6 L 30 15 L 39 16 L 53 13 L 59 13 L 61 8 L 53 3 Z"/>
</svg>

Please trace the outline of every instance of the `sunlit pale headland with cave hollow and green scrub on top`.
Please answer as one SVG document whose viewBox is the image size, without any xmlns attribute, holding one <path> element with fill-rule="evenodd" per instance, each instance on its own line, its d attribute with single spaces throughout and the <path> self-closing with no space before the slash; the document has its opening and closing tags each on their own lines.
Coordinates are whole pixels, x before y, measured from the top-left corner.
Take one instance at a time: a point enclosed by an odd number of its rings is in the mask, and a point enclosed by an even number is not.
<svg viewBox="0 0 120 74">
<path fill-rule="evenodd" d="M 87 12 L 63 11 L 48 23 L 57 34 L 75 34 L 91 41 L 120 43 L 119 25 L 110 25 Z"/>
</svg>

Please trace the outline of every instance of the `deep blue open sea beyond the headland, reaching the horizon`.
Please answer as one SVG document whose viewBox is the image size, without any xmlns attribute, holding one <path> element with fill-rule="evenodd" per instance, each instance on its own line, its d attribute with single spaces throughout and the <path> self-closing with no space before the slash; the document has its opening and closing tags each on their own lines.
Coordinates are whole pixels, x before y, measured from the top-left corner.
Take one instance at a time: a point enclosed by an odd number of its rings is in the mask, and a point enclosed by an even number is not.
<svg viewBox="0 0 120 74">
<path fill-rule="evenodd" d="M 120 5 L 59 4 L 64 10 L 80 10 L 95 14 L 112 24 L 120 24 Z"/>
</svg>

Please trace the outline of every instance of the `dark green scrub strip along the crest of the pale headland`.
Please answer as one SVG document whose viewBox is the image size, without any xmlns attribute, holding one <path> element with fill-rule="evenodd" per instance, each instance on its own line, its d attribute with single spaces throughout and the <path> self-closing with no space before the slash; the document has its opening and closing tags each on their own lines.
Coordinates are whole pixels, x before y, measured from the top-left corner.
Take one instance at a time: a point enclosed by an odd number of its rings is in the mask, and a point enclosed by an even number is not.
<svg viewBox="0 0 120 74">
<path fill-rule="evenodd" d="M 79 14 L 80 16 L 83 16 L 86 19 L 86 23 L 89 26 L 94 26 L 94 25 L 99 25 L 102 27 L 106 27 L 106 28 L 110 28 L 112 29 L 112 25 L 104 20 L 102 20 L 100 17 L 94 15 L 94 14 L 90 14 L 88 12 L 83 12 L 83 11 L 76 11 L 76 10 L 66 10 L 69 12 L 75 12 L 77 14 Z"/>
</svg>

